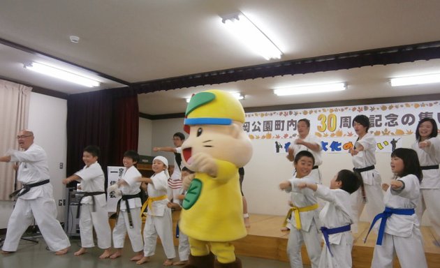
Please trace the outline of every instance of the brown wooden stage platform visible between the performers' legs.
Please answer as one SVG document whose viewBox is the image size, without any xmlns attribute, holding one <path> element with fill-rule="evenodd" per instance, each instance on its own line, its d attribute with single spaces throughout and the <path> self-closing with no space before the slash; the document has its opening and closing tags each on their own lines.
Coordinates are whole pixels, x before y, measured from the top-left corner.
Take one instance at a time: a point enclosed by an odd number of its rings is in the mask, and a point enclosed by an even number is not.
<svg viewBox="0 0 440 268">
<path fill-rule="evenodd" d="M 280 230 L 284 217 L 251 214 L 249 219 L 251 227 L 247 228 L 247 237 L 233 242 L 235 253 L 288 262 L 286 255 L 288 232 L 281 232 Z M 364 244 L 363 239 L 367 235 L 368 228 L 369 223 L 361 222 L 358 227 L 359 232 L 353 234 L 355 239 L 352 251 L 353 267 L 371 266 L 377 235 L 372 231 Z M 434 244 L 436 237 L 434 237 L 433 231 L 430 227 L 423 226 L 421 232 L 425 242 L 428 267 L 440 267 L 440 247 Z M 439 237 L 437 237 L 437 241 L 440 241 Z M 305 246 L 302 246 L 302 259 L 306 265 L 310 265 Z M 395 258 L 394 267 L 400 267 L 397 258 Z"/>
</svg>

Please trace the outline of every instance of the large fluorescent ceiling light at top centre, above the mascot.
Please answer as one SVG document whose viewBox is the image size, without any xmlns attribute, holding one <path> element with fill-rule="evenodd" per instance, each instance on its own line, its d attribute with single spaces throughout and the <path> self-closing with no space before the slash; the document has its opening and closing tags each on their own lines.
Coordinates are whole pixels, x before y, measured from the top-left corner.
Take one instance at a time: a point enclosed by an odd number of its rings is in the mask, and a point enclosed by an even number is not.
<svg viewBox="0 0 440 268">
<path fill-rule="evenodd" d="M 267 38 L 263 31 L 258 29 L 243 13 L 234 13 L 221 18 L 221 22 L 251 50 L 267 60 L 281 58 L 283 53 L 277 45 Z"/>
</svg>

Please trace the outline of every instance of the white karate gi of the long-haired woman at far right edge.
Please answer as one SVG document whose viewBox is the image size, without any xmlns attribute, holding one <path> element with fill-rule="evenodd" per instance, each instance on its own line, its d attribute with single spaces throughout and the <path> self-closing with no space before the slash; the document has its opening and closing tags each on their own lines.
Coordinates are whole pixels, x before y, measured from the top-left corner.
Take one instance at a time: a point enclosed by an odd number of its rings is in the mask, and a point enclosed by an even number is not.
<svg viewBox="0 0 440 268">
<path fill-rule="evenodd" d="M 439 165 L 440 163 L 440 140 L 431 137 L 429 147 L 419 148 L 418 142 L 412 145 L 417 152 L 421 166 Z M 423 170 L 423 180 L 420 184 L 420 200 L 416 207 L 418 220 L 421 221 L 425 210 L 431 221 L 431 226 L 440 237 L 440 170 Z"/>
</svg>

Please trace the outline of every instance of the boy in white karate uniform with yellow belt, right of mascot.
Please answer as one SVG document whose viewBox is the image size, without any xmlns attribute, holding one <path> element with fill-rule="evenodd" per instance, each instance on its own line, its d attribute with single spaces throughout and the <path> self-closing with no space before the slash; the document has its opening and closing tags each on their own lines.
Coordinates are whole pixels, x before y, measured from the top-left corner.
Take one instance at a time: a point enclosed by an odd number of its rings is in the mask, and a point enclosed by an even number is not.
<svg viewBox="0 0 440 268">
<path fill-rule="evenodd" d="M 300 151 L 293 161 L 296 174 L 288 181 L 282 181 L 279 188 L 291 193 L 291 233 L 287 242 L 287 255 L 291 267 L 302 267 L 301 246 L 304 241 L 311 260 L 311 267 L 318 267 L 321 256 L 321 237 L 318 218 L 318 200 L 309 188 L 298 188 L 298 184 L 316 184 L 316 179 L 309 177 L 314 166 L 314 157 L 309 151 Z"/>
</svg>

